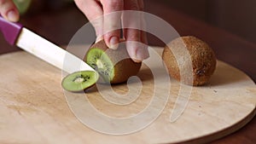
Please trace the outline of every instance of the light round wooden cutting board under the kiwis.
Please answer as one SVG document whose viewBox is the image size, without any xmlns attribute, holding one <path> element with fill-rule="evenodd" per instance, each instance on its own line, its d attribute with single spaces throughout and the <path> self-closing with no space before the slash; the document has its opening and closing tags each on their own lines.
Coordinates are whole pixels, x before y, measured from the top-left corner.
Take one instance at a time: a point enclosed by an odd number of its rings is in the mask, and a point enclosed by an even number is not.
<svg viewBox="0 0 256 144">
<path fill-rule="evenodd" d="M 161 49 L 157 50 L 161 53 Z M 160 66 L 153 65 L 155 69 Z M 127 105 L 106 101 L 96 88 L 86 94 L 63 91 L 61 70 L 23 51 L 1 55 L 0 69 L 0 143 L 201 143 L 240 129 L 255 115 L 256 86 L 253 80 L 219 60 L 209 84 L 186 87 L 191 89 L 191 95 L 175 121 L 171 121 L 170 116 L 172 110 L 179 107 L 177 99 L 181 85 L 172 78 L 171 88 L 166 87 L 166 81 L 154 85 L 148 66 L 143 66 L 138 73 L 140 84 L 143 84 L 138 97 L 135 99 L 131 95 L 125 99 L 132 99 Z M 131 83 L 130 88 L 140 88 L 137 84 Z M 86 126 L 81 123 L 81 118 L 76 118 L 84 112 L 85 116 L 94 114 L 83 109 L 86 102 L 112 118 L 135 116 L 153 100 L 154 88 L 160 89 L 158 94 L 170 89 L 170 97 L 160 117 L 142 130 L 127 135 L 107 135 L 92 130 L 90 124 Z M 108 93 L 108 90 L 103 91 Z M 121 95 L 132 92 L 126 84 L 114 85 L 113 90 Z M 90 120 L 102 129 L 108 127 L 101 123 L 101 119 L 90 117 Z M 131 121 L 131 125 L 136 123 Z"/>
</svg>

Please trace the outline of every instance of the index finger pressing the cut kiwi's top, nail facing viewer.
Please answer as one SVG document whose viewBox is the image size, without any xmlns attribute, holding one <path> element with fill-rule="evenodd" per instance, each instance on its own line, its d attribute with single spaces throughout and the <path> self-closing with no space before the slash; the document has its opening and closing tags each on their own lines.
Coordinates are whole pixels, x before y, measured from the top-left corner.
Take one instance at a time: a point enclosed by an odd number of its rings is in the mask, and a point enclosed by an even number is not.
<svg viewBox="0 0 256 144">
<path fill-rule="evenodd" d="M 123 0 L 101 0 L 104 12 L 104 40 L 110 49 L 117 49 L 120 39 Z"/>
</svg>

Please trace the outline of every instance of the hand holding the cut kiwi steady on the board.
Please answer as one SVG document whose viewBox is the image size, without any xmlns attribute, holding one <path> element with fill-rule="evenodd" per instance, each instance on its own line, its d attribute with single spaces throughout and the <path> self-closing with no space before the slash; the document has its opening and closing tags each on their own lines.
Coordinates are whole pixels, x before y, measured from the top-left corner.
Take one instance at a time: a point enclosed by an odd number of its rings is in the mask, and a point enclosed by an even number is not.
<svg viewBox="0 0 256 144">
<path fill-rule="evenodd" d="M 105 14 L 122 11 L 122 10 L 143 10 L 143 0 L 74 0 L 79 9 L 92 22 L 95 27 L 97 40 L 104 38 L 110 49 L 116 49 L 120 39 L 120 28 L 144 26 L 143 16 L 125 16 L 121 13 L 114 13 L 108 16 Z M 103 20 L 96 20 L 102 17 Z M 122 26 L 121 26 L 122 25 Z M 126 43 L 126 48 L 135 62 L 141 62 L 148 58 L 148 49 L 144 45 L 147 44 L 145 32 L 137 29 L 123 29 L 123 36 Z M 133 43 L 132 43 L 133 42 Z M 136 43 L 134 43 L 136 42 Z"/>
</svg>

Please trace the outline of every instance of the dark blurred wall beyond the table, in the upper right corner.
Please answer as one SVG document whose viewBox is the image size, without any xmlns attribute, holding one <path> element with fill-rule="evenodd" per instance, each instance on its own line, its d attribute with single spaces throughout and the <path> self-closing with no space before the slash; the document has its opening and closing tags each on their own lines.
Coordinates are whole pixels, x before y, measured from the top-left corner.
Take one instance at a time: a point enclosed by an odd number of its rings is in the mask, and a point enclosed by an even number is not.
<svg viewBox="0 0 256 144">
<path fill-rule="evenodd" d="M 160 0 L 159 2 L 256 43 L 255 0 Z"/>
</svg>

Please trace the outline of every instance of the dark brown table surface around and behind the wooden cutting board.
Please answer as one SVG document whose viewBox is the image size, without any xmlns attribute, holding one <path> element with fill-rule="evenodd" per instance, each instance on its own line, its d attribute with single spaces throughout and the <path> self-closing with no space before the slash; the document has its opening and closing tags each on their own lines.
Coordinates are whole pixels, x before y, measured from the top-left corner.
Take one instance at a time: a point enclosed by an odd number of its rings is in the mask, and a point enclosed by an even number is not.
<svg viewBox="0 0 256 144">
<path fill-rule="evenodd" d="M 209 43 L 215 51 L 218 60 L 223 60 L 232 66 L 246 72 L 247 75 L 256 82 L 256 43 L 233 35 L 215 26 L 210 26 L 204 21 L 195 20 L 188 15 L 181 14 L 156 1 L 147 1 L 145 11 L 160 16 L 171 24 L 181 36 L 193 35 Z M 75 8 L 69 6 L 56 11 L 49 10 L 44 13 L 30 14 L 21 17 L 20 22 L 37 32 L 43 37 L 59 45 L 69 43 L 73 34 L 83 26 L 87 20 L 84 15 Z M 148 37 L 149 44 L 160 45 L 154 37 Z M 9 46 L 0 35 L 0 54 L 5 54 L 19 50 L 14 46 Z M 254 144 L 256 142 L 256 117 L 246 126 L 237 130 L 231 135 L 212 141 L 212 144 Z"/>
</svg>

